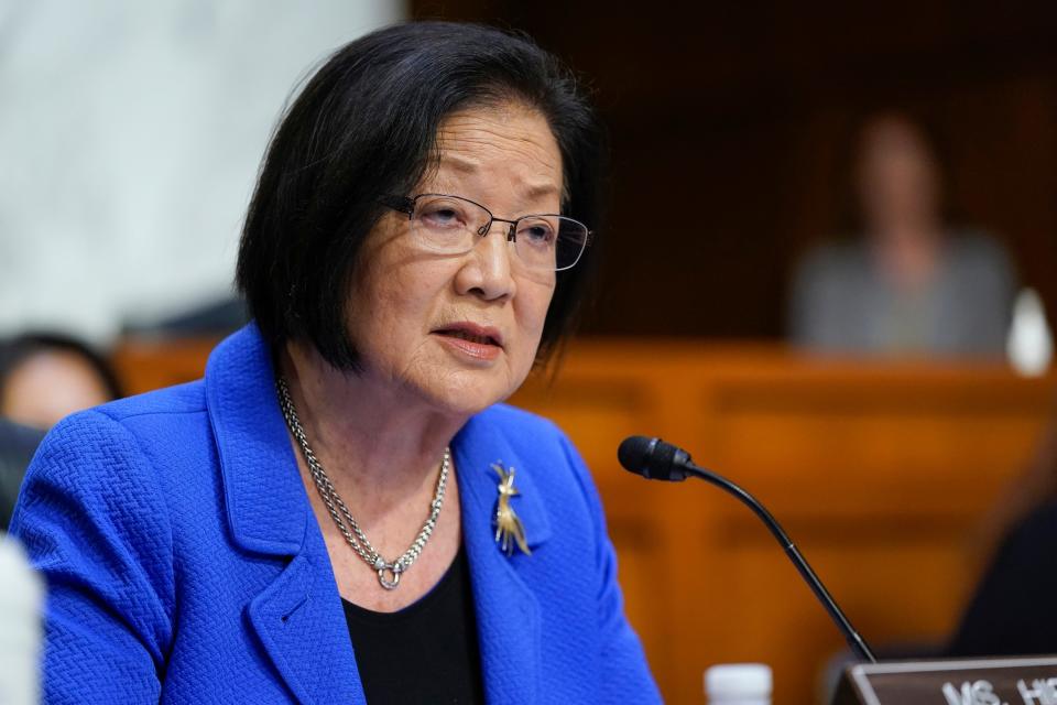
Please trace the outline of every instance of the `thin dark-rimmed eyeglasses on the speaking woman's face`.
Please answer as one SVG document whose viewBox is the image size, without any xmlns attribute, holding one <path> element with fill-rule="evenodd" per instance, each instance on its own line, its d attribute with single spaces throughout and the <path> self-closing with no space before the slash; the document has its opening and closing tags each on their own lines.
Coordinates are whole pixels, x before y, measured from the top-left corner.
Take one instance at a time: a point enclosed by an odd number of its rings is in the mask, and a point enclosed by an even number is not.
<svg viewBox="0 0 1057 705">
<path fill-rule="evenodd" d="M 497 218 L 479 203 L 446 194 L 383 196 L 381 203 L 411 220 L 412 236 L 418 245 L 442 254 L 465 254 L 478 238 L 488 236 L 493 223 L 505 223 L 506 241 L 528 269 L 557 271 L 571 269 L 584 254 L 591 231 L 579 220 L 558 215 L 521 216 L 514 220 Z"/>
</svg>

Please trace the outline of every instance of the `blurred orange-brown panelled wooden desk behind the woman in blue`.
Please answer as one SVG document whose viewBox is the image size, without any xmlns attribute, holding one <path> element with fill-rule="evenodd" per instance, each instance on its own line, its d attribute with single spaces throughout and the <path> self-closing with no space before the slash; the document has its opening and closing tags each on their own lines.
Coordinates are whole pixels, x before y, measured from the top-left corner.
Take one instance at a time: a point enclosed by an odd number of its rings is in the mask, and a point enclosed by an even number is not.
<svg viewBox="0 0 1057 705">
<path fill-rule="evenodd" d="M 129 344 L 117 361 L 145 389 L 200 373 L 208 347 Z M 705 484 L 625 473 L 620 441 L 661 435 L 756 495 L 872 644 L 939 641 L 976 581 L 973 531 L 1055 400 L 1057 378 L 995 365 L 610 339 L 576 343 L 556 377 L 512 401 L 555 420 L 592 468 L 626 610 L 666 699 L 702 702 L 710 664 L 762 661 L 784 704 L 807 705 L 843 642 L 772 536 Z"/>
</svg>

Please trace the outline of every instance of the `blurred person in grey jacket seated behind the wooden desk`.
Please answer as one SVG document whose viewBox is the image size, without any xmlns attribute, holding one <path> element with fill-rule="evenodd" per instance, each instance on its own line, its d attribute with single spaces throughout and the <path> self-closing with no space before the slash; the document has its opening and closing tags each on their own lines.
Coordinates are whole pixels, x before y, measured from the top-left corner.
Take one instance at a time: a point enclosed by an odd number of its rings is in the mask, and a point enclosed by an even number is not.
<svg viewBox="0 0 1057 705">
<path fill-rule="evenodd" d="M 826 351 L 1002 355 L 1014 269 L 995 240 L 945 217 L 941 163 L 922 128 L 897 113 L 868 120 L 853 171 L 858 237 L 802 258 L 794 341 Z"/>
</svg>

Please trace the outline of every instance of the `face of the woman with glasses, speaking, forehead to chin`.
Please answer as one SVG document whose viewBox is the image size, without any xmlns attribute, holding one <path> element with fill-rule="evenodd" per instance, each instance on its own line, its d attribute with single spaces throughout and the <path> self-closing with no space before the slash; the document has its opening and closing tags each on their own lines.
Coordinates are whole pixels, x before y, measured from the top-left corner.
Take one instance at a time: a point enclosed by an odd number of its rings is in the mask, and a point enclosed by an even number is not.
<svg viewBox="0 0 1057 705">
<path fill-rule="evenodd" d="M 455 113 L 439 162 L 408 196 L 464 196 L 495 217 L 559 213 L 562 155 L 546 120 L 517 102 Z M 459 256 L 416 247 L 411 221 L 383 216 L 353 272 L 348 326 L 363 376 L 400 403 L 472 414 L 532 369 L 555 273 L 526 271 L 502 223 Z"/>
</svg>

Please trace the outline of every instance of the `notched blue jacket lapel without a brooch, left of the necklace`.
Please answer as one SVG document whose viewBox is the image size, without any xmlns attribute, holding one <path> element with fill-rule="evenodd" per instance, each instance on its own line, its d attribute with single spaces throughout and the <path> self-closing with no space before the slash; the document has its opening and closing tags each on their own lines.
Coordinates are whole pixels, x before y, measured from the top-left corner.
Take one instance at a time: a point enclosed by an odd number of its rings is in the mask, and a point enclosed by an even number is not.
<svg viewBox="0 0 1057 705">
<path fill-rule="evenodd" d="M 250 626 L 297 699 L 364 703 L 341 598 L 279 409 L 271 356 L 255 325 L 209 357 L 206 394 L 235 543 L 292 557 L 250 600 Z"/>
</svg>

